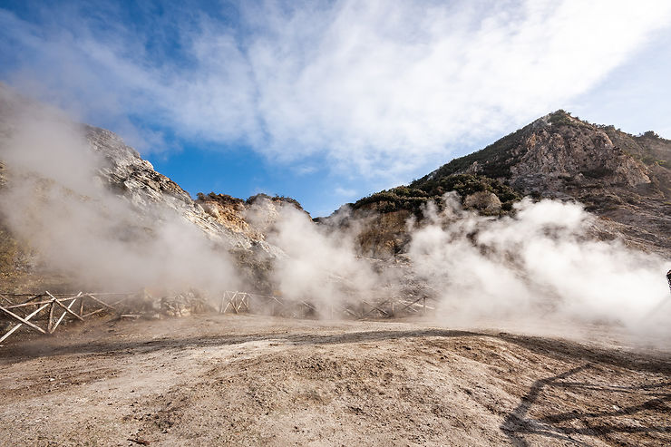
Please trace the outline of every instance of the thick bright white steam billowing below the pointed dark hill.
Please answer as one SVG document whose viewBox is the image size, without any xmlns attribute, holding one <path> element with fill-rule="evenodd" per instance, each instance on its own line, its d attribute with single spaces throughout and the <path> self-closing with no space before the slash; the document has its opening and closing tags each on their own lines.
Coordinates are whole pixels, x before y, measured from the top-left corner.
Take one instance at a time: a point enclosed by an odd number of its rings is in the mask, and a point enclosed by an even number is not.
<svg viewBox="0 0 671 447">
<path fill-rule="evenodd" d="M 491 219 L 462 210 L 453 195 L 444 200 L 413 231 L 409 255 L 439 291 L 448 321 L 555 318 L 633 330 L 671 323 L 671 263 L 589 238 L 595 218 L 579 205 L 523 200 L 514 217 Z M 656 309 L 663 312 L 652 316 Z"/>
</svg>

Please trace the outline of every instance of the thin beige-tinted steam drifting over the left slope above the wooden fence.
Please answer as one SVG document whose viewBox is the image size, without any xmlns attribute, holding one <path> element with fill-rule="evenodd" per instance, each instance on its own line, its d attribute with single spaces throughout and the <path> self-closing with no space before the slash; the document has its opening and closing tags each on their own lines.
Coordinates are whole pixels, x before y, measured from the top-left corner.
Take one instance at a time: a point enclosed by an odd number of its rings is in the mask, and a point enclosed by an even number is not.
<svg viewBox="0 0 671 447">
<path fill-rule="evenodd" d="M 3 93 L 0 212 L 48 271 L 110 291 L 236 287 L 228 252 L 174 209 L 112 193 L 83 126 Z M 141 194 L 141 192 L 139 192 Z"/>
</svg>

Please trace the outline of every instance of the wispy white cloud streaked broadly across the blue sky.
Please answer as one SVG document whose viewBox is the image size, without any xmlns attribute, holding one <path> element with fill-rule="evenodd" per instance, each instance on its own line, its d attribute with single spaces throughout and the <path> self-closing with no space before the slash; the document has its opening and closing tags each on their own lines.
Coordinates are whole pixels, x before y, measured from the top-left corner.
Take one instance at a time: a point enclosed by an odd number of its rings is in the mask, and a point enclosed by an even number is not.
<svg viewBox="0 0 671 447">
<path fill-rule="evenodd" d="M 245 5 L 237 29 L 180 23 L 188 61 L 152 60 L 147 36 L 85 17 L 50 33 L 0 23 L 32 54 L 14 83 L 31 72 L 84 117 L 398 176 L 564 106 L 671 22 L 666 1 Z"/>
</svg>

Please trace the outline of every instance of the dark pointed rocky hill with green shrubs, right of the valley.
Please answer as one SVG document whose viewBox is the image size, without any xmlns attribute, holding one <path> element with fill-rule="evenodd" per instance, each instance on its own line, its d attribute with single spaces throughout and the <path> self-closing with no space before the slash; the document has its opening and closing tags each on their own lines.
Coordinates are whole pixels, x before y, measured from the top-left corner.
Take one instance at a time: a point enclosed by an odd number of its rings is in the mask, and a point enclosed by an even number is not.
<svg viewBox="0 0 671 447">
<path fill-rule="evenodd" d="M 550 113 L 408 186 L 351 204 L 356 217 L 382 213 L 361 233 L 364 251 L 377 257 L 402 251 L 405 219 L 421 218 L 423 205 L 448 191 L 466 209 L 494 216 L 525 196 L 577 200 L 601 218 L 600 236 L 671 254 L 671 141 L 653 131 L 634 136 Z"/>
</svg>

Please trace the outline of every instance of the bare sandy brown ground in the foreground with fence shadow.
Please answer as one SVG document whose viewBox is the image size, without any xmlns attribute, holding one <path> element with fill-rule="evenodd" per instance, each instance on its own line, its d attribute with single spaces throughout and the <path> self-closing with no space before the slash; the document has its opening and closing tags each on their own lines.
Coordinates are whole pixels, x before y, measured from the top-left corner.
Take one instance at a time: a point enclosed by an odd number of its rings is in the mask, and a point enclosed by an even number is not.
<svg viewBox="0 0 671 447">
<path fill-rule="evenodd" d="M 0 368 L 3 446 L 671 444 L 671 354 L 608 337 L 101 320 L 10 341 Z"/>
</svg>

